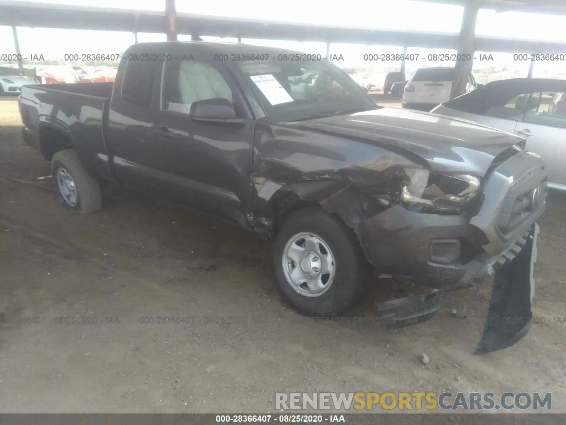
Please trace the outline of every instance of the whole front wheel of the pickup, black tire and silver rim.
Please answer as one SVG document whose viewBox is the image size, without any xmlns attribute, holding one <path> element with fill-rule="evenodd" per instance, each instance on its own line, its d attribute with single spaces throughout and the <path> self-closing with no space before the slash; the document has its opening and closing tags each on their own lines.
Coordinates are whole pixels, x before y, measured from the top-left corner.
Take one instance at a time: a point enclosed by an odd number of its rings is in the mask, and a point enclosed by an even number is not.
<svg viewBox="0 0 566 425">
<path fill-rule="evenodd" d="M 270 260 L 277 289 L 307 316 L 337 316 L 367 290 L 368 264 L 357 237 L 318 207 L 295 211 L 285 219 Z"/>
</svg>

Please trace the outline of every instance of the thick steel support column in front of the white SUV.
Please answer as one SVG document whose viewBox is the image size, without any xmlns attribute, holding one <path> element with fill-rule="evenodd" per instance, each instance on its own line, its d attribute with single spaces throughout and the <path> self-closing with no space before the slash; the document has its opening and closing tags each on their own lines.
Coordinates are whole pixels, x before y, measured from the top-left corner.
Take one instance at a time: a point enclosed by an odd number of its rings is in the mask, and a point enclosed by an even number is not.
<svg viewBox="0 0 566 425">
<path fill-rule="evenodd" d="M 454 70 L 454 80 L 452 82 L 451 99 L 463 95 L 468 84 L 468 75 L 474 64 L 474 41 L 475 41 L 475 22 L 478 18 L 479 1 L 468 0 L 464 6 L 462 25 L 460 28 L 460 39 L 458 39 L 458 56 L 466 59 L 466 55 L 471 56 L 471 60 L 456 61 Z M 457 58 L 458 59 L 458 58 Z"/>
</svg>

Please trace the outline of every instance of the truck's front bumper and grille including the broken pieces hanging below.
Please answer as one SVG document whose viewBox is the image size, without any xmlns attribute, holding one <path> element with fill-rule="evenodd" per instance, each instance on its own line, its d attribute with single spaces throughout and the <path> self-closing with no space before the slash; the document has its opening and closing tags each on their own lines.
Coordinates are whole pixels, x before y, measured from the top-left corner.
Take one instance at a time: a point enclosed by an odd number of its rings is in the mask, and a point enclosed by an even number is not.
<svg viewBox="0 0 566 425">
<path fill-rule="evenodd" d="M 389 327 L 429 320 L 447 291 L 479 283 L 495 271 L 490 308 L 475 354 L 504 349 L 529 332 L 537 259 L 536 220 L 546 206 L 547 177 L 540 156 L 529 151 L 494 162 L 482 189 L 482 203 L 471 218 L 464 214 L 421 214 L 396 205 L 361 223 L 357 235 L 368 260 L 380 270 L 409 274 L 432 288 L 376 303 Z M 469 243 L 472 255 L 453 264 L 428 261 L 432 241 L 452 238 Z M 387 272 L 385 272 L 387 273 Z"/>
</svg>

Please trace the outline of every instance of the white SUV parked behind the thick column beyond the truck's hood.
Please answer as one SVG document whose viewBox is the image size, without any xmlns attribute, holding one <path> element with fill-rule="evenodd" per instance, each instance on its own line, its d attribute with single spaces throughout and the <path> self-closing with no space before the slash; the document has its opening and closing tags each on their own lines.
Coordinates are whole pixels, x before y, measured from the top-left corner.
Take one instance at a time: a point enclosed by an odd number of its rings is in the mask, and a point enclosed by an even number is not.
<svg viewBox="0 0 566 425">
<path fill-rule="evenodd" d="M 405 86 L 401 101 L 402 108 L 430 111 L 445 101 L 450 100 L 454 67 L 419 68 Z M 471 73 L 466 82 L 466 92 L 480 87 Z"/>
</svg>

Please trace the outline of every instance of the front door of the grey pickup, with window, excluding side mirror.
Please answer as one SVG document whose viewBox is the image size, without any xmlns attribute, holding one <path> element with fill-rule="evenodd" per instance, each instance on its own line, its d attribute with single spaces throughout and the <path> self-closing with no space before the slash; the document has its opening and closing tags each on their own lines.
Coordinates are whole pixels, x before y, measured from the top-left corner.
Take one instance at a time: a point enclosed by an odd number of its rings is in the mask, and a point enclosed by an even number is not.
<svg viewBox="0 0 566 425">
<path fill-rule="evenodd" d="M 250 228 L 246 211 L 251 211 L 252 201 L 251 112 L 221 62 L 175 59 L 183 57 L 181 53 L 171 56 L 162 64 L 158 111 L 148 139 L 156 153 L 147 166 L 177 201 Z M 225 99 L 243 122 L 192 120 L 191 104 L 207 99 Z"/>
</svg>

